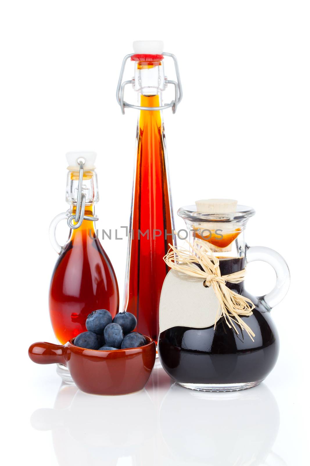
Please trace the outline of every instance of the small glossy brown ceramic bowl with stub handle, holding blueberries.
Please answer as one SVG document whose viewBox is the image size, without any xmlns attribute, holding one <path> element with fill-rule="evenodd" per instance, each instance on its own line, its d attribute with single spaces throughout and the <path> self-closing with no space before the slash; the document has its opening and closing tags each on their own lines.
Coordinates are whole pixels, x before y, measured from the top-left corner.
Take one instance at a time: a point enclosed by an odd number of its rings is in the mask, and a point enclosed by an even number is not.
<svg viewBox="0 0 310 466">
<path fill-rule="evenodd" d="M 73 345 L 33 343 L 28 354 L 34 363 L 67 366 L 80 390 L 95 395 L 125 395 L 142 390 L 151 377 L 156 357 L 152 338 L 139 348 L 100 351 Z"/>
</svg>

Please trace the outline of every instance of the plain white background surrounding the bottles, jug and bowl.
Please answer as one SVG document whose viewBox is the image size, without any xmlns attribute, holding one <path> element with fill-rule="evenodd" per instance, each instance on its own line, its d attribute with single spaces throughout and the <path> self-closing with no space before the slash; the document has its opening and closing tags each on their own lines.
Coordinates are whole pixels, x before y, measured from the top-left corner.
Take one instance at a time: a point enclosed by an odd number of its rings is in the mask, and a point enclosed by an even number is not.
<svg viewBox="0 0 310 466">
<path fill-rule="evenodd" d="M 4 464 L 307 464 L 309 13 L 296 0 L 1 2 Z M 290 291 L 272 311 L 277 366 L 248 391 L 194 393 L 155 370 L 135 396 L 58 392 L 55 367 L 27 356 L 30 343 L 55 341 L 48 227 L 68 208 L 66 151 L 98 153 L 97 227 L 128 224 L 137 111 L 122 116 L 115 91 L 140 39 L 164 40 L 179 62 L 184 99 L 175 115 L 164 113 L 175 217 L 196 199 L 238 199 L 257 211 L 248 243 L 276 249 L 290 267 Z M 66 225 L 59 231 L 64 242 Z M 126 241 L 103 246 L 122 295 Z M 269 266 L 248 270 L 251 292 L 272 288 Z"/>
</svg>

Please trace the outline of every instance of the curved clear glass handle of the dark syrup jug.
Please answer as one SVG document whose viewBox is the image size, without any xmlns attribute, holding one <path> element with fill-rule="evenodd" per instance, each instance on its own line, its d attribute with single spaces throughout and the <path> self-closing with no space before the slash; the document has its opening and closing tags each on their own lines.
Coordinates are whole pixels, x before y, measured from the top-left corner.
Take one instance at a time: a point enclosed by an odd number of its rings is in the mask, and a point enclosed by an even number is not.
<svg viewBox="0 0 310 466">
<path fill-rule="evenodd" d="M 270 311 L 283 300 L 290 287 L 290 270 L 283 257 L 269 247 L 247 246 L 246 261 L 254 262 L 255 260 L 267 262 L 276 272 L 275 287 L 267 295 L 259 297 L 265 308 Z"/>
</svg>

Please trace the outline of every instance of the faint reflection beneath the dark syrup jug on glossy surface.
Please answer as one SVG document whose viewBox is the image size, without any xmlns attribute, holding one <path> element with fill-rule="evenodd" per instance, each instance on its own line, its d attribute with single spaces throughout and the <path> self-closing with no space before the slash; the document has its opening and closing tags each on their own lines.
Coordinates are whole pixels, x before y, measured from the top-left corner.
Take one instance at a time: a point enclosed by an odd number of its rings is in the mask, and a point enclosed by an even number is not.
<svg viewBox="0 0 310 466">
<path fill-rule="evenodd" d="M 159 411 L 171 458 L 165 464 L 285 465 L 270 454 L 279 423 L 277 402 L 264 384 L 224 393 L 173 385 Z"/>
</svg>

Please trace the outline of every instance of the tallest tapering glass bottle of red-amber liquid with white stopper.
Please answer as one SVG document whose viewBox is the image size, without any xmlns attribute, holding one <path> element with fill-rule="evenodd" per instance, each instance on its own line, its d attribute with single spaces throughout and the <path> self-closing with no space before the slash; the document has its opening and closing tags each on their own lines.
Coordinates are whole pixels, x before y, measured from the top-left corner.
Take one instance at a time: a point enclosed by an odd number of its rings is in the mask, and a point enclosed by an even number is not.
<svg viewBox="0 0 310 466">
<path fill-rule="evenodd" d="M 139 117 L 124 308 L 137 317 L 137 331 L 157 341 L 160 292 L 169 271 L 163 257 L 174 229 L 162 116 L 162 92 L 168 81 L 162 42 L 134 42 L 134 50 L 130 56 L 138 106 L 125 103 L 125 107 L 139 108 Z"/>
</svg>

